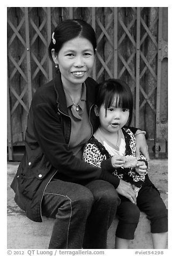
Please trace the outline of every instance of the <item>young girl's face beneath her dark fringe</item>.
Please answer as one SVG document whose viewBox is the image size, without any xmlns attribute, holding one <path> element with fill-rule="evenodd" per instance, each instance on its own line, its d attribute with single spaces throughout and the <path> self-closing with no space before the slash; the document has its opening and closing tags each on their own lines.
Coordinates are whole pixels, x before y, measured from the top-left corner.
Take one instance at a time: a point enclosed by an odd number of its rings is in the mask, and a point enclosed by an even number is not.
<svg viewBox="0 0 175 256">
<path fill-rule="evenodd" d="M 116 108 L 115 104 L 107 108 L 107 111 L 104 105 L 99 110 L 96 107 L 95 111 L 96 115 L 99 116 L 100 129 L 105 133 L 117 133 L 129 118 L 129 109 Z"/>
</svg>

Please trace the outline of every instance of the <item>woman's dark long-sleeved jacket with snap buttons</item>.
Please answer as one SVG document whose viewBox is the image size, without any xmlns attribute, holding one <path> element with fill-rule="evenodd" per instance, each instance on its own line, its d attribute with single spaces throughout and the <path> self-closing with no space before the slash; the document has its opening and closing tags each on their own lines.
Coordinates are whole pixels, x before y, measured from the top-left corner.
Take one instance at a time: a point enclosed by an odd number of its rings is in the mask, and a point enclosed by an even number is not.
<svg viewBox="0 0 175 256">
<path fill-rule="evenodd" d="M 88 77 L 86 104 L 92 133 L 98 127 L 93 111 L 97 83 Z M 25 153 L 11 184 L 14 201 L 33 221 L 42 222 L 41 201 L 47 184 L 57 173 L 59 179 L 79 184 L 107 180 L 118 187 L 119 179 L 111 173 L 111 159 L 93 167 L 74 157 L 69 150 L 71 119 L 62 87 L 61 75 L 40 87 L 34 94 L 27 119 Z M 112 176 L 112 177 L 111 177 Z"/>
</svg>

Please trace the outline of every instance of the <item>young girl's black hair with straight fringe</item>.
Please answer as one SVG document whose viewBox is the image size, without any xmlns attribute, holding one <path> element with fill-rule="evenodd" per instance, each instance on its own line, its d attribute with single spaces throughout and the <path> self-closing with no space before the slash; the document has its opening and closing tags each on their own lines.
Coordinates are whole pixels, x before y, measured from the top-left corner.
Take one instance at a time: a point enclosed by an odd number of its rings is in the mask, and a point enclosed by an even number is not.
<svg viewBox="0 0 175 256">
<path fill-rule="evenodd" d="M 117 96 L 117 97 L 116 97 Z M 122 80 L 109 79 L 99 84 L 96 105 L 104 105 L 106 111 L 115 102 L 116 108 L 129 109 L 127 125 L 132 122 L 133 95 L 129 86 Z"/>
</svg>

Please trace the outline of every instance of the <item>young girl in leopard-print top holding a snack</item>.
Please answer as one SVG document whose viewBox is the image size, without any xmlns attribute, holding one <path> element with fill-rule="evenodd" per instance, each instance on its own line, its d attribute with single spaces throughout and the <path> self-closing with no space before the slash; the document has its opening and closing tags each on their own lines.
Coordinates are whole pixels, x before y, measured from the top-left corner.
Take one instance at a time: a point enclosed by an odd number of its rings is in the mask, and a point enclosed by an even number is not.
<svg viewBox="0 0 175 256">
<path fill-rule="evenodd" d="M 136 204 L 120 194 L 117 214 L 115 248 L 128 248 L 134 239 L 140 211 L 147 214 L 151 224 L 154 248 L 165 248 L 167 239 L 167 209 L 157 188 L 149 180 L 147 161 L 141 154 L 135 158 L 135 137 L 126 126 L 132 120 L 133 97 L 130 88 L 121 80 L 110 79 L 99 86 L 96 106 L 99 128 L 84 147 L 83 160 L 100 167 L 101 161 L 111 158 L 115 176 L 129 182 L 136 193 Z"/>
</svg>

